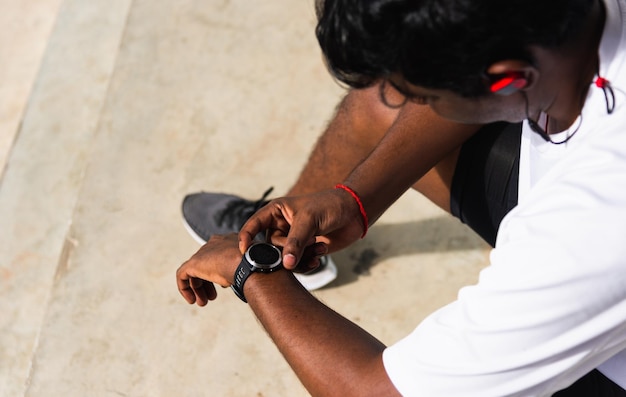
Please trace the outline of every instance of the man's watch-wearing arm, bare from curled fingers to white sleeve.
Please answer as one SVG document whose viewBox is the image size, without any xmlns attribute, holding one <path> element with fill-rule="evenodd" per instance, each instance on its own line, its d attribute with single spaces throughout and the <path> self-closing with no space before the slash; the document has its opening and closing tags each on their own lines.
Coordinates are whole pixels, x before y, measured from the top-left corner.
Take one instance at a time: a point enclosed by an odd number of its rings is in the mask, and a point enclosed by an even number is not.
<svg viewBox="0 0 626 397">
<path fill-rule="evenodd" d="M 188 303 L 204 306 L 217 296 L 207 280 L 232 284 L 240 260 L 236 236 L 216 236 L 178 269 L 178 289 Z M 399 395 L 383 367 L 385 346 L 315 299 L 292 272 L 252 273 L 244 294 L 313 396 Z"/>
</svg>

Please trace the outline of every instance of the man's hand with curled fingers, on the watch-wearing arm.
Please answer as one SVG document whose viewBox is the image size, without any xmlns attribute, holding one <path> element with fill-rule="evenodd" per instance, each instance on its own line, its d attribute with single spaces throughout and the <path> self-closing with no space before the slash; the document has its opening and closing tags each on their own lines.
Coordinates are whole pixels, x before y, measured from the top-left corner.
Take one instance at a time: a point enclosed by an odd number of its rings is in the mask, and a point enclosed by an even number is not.
<svg viewBox="0 0 626 397">
<path fill-rule="evenodd" d="M 176 271 L 178 290 L 185 300 L 204 306 L 217 297 L 213 283 L 228 287 L 241 262 L 236 234 L 215 235 Z"/>
</svg>

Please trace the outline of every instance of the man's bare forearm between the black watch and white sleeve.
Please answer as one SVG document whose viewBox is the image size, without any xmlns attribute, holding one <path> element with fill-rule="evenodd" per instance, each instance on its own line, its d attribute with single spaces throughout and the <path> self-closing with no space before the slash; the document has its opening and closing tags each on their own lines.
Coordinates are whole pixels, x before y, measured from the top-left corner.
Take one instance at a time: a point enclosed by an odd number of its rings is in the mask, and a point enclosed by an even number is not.
<svg viewBox="0 0 626 397">
<path fill-rule="evenodd" d="M 250 307 L 314 396 L 397 396 L 382 362 L 385 346 L 307 292 L 288 271 L 254 274 Z"/>
</svg>

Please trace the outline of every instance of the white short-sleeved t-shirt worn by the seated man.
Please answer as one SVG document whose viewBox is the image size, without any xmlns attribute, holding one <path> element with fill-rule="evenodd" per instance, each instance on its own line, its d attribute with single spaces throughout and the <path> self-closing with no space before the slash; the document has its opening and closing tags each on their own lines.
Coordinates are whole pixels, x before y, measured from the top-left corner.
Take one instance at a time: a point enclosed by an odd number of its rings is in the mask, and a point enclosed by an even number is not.
<svg viewBox="0 0 626 397">
<path fill-rule="evenodd" d="M 605 6 L 614 112 L 594 86 L 567 144 L 524 126 L 490 266 L 384 352 L 403 395 L 549 396 L 594 368 L 626 388 L 626 0 Z"/>
</svg>

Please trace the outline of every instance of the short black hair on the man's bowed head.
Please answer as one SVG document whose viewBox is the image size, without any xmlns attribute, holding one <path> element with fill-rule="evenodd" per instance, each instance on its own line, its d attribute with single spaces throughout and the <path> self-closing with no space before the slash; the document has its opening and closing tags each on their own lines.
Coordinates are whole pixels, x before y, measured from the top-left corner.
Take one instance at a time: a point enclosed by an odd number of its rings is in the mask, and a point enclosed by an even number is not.
<svg viewBox="0 0 626 397">
<path fill-rule="evenodd" d="M 318 0 L 316 35 L 331 73 L 354 88 L 394 73 L 465 97 L 486 94 L 498 60 L 534 63 L 561 46 L 597 0 Z"/>
</svg>

